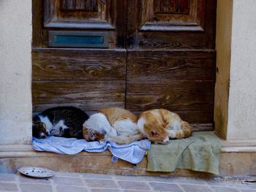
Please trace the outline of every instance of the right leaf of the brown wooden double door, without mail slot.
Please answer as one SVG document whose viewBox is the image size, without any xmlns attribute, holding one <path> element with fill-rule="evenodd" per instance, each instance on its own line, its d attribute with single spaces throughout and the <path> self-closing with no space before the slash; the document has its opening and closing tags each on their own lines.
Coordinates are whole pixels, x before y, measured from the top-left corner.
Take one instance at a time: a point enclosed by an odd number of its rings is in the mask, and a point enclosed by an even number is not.
<svg viewBox="0 0 256 192">
<path fill-rule="evenodd" d="M 127 103 L 214 126 L 216 0 L 127 1 Z"/>
</svg>

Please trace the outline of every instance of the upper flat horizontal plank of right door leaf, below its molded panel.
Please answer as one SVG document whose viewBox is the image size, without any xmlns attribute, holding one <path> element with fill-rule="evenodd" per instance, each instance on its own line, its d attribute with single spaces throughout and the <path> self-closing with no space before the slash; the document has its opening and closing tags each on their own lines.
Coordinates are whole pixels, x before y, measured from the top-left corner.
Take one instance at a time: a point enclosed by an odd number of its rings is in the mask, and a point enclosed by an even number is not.
<svg viewBox="0 0 256 192">
<path fill-rule="evenodd" d="M 129 50 L 128 80 L 215 80 L 214 51 Z"/>
</svg>

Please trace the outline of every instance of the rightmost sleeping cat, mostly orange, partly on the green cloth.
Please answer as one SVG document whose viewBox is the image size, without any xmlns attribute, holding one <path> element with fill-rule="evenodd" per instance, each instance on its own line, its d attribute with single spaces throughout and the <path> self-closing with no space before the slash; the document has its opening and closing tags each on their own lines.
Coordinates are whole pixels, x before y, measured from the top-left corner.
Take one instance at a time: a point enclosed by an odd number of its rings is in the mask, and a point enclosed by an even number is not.
<svg viewBox="0 0 256 192">
<path fill-rule="evenodd" d="M 168 110 L 148 110 L 138 119 L 138 128 L 151 142 L 167 144 L 169 139 L 182 139 L 192 135 L 189 123 Z"/>
</svg>

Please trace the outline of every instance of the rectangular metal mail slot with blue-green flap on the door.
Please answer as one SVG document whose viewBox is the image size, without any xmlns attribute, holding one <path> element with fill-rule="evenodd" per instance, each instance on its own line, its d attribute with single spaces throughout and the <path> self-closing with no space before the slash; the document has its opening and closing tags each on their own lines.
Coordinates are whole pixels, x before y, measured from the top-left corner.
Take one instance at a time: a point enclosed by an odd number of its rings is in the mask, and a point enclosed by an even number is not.
<svg viewBox="0 0 256 192">
<path fill-rule="evenodd" d="M 108 32 L 49 31 L 49 47 L 108 48 Z"/>
</svg>

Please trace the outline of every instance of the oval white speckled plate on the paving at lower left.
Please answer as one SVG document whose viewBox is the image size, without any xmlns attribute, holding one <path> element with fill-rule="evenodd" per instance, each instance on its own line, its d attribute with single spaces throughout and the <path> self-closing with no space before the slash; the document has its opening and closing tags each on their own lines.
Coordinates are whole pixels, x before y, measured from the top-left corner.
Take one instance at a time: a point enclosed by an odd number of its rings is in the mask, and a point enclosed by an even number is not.
<svg viewBox="0 0 256 192">
<path fill-rule="evenodd" d="M 37 178 L 52 177 L 54 175 L 52 170 L 39 166 L 23 166 L 18 171 L 26 176 Z"/>
</svg>

